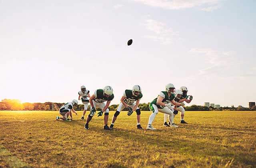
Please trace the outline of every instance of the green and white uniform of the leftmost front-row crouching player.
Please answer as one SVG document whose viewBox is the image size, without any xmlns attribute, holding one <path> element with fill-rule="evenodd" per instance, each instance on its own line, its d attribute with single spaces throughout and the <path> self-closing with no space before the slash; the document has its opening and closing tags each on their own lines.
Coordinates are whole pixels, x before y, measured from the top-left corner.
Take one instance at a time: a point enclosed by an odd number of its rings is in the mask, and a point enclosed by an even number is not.
<svg viewBox="0 0 256 168">
<path fill-rule="evenodd" d="M 93 106 L 96 109 L 96 107 L 103 110 L 103 108 L 106 106 L 106 101 L 111 101 L 114 99 L 114 94 L 112 94 L 109 97 L 104 96 L 103 89 L 98 89 L 94 92 L 95 98 L 92 100 Z M 108 108 L 106 109 L 105 113 L 108 113 Z"/>
</svg>

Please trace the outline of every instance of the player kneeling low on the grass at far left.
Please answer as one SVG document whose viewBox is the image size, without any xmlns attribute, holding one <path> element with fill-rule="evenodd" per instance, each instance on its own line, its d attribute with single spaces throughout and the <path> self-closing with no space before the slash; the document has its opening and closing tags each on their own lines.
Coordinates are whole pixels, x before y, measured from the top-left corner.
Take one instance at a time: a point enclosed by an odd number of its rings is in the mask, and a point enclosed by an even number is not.
<svg viewBox="0 0 256 168">
<path fill-rule="evenodd" d="M 74 110 L 73 106 L 78 104 L 77 100 L 72 100 L 72 102 L 68 102 L 61 106 L 59 113 L 62 115 L 62 117 L 56 116 L 56 120 L 65 120 L 65 121 L 71 121 L 73 119 L 72 112 L 74 112 L 77 115 L 77 112 Z M 70 115 L 70 118 L 68 116 Z"/>
</svg>

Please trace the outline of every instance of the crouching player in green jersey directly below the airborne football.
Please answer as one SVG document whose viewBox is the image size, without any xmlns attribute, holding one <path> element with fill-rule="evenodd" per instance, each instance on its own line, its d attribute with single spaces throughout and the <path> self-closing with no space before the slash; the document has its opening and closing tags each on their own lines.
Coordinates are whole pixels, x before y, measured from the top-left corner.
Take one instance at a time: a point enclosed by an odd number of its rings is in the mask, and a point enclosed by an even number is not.
<svg viewBox="0 0 256 168">
<path fill-rule="evenodd" d="M 140 126 L 140 109 L 138 108 L 140 104 L 140 99 L 142 98 L 141 88 L 139 85 L 135 85 L 132 87 L 132 90 L 125 90 L 124 94 L 121 98 L 121 103 L 119 104 L 113 118 L 112 123 L 110 125 L 110 129 L 112 130 L 114 127 L 114 122 L 116 121 L 117 116 L 124 108 L 128 108 L 127 115 L 132 115 L 133 111 L 136 111 L 137 114 L 137 128 L 142 129 Z M 136 101 L 136 103 L 134 103 Z"/>
</svg>

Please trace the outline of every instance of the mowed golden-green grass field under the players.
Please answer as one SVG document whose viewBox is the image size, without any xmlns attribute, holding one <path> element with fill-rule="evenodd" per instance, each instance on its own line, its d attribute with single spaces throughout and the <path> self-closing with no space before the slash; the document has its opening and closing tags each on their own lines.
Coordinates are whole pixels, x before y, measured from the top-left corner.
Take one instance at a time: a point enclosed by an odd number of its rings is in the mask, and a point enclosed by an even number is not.
<svg viewBox="0 0 256 168">
<path fill-rule="evenodd" d="M 179 113 L 179 128 L 163 127 L 158 113 L 154 131 L 145 129 L 150 112 L 144 130 L 135 112 L 121 112 L 112 131 L 103 116 L 84 130 L 81 114 L 65 122 L 57 111 L 1 111 L 0 167 L 256 167 L 256 112 L 186 112 L 189 124 Z"/>
</svg>

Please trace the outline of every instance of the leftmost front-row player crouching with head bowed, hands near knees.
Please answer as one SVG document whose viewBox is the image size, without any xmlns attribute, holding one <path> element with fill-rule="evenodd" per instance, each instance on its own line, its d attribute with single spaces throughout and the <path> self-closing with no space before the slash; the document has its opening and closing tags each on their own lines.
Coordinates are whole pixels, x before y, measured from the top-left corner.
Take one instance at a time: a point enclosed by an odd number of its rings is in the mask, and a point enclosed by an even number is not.
<svg viewBox="0 0 256 168">
<path fill-rule="evenodd" d="M 92 120 L 92 117 L 96 113 L 96 107 L 100 108 L 101 111 L 98 112 L 98 117 L 102 116 L 104 112 L 104 130 L 110 130 L 108 127 L 108 106 L 113 100 L 114 94 L 113 89 L 110 86 L 106 86 L 103 90 L 98 89 L 94 92 L 94 94 L 90 97 L 89 102 L 91 105 L 91 111 L 86 119 L 86 124 L 84 125 L 84 129 L 89 130 L 89 122 Z M 105 103 L 107 101 L 107 103 Z"/>
</svg>

